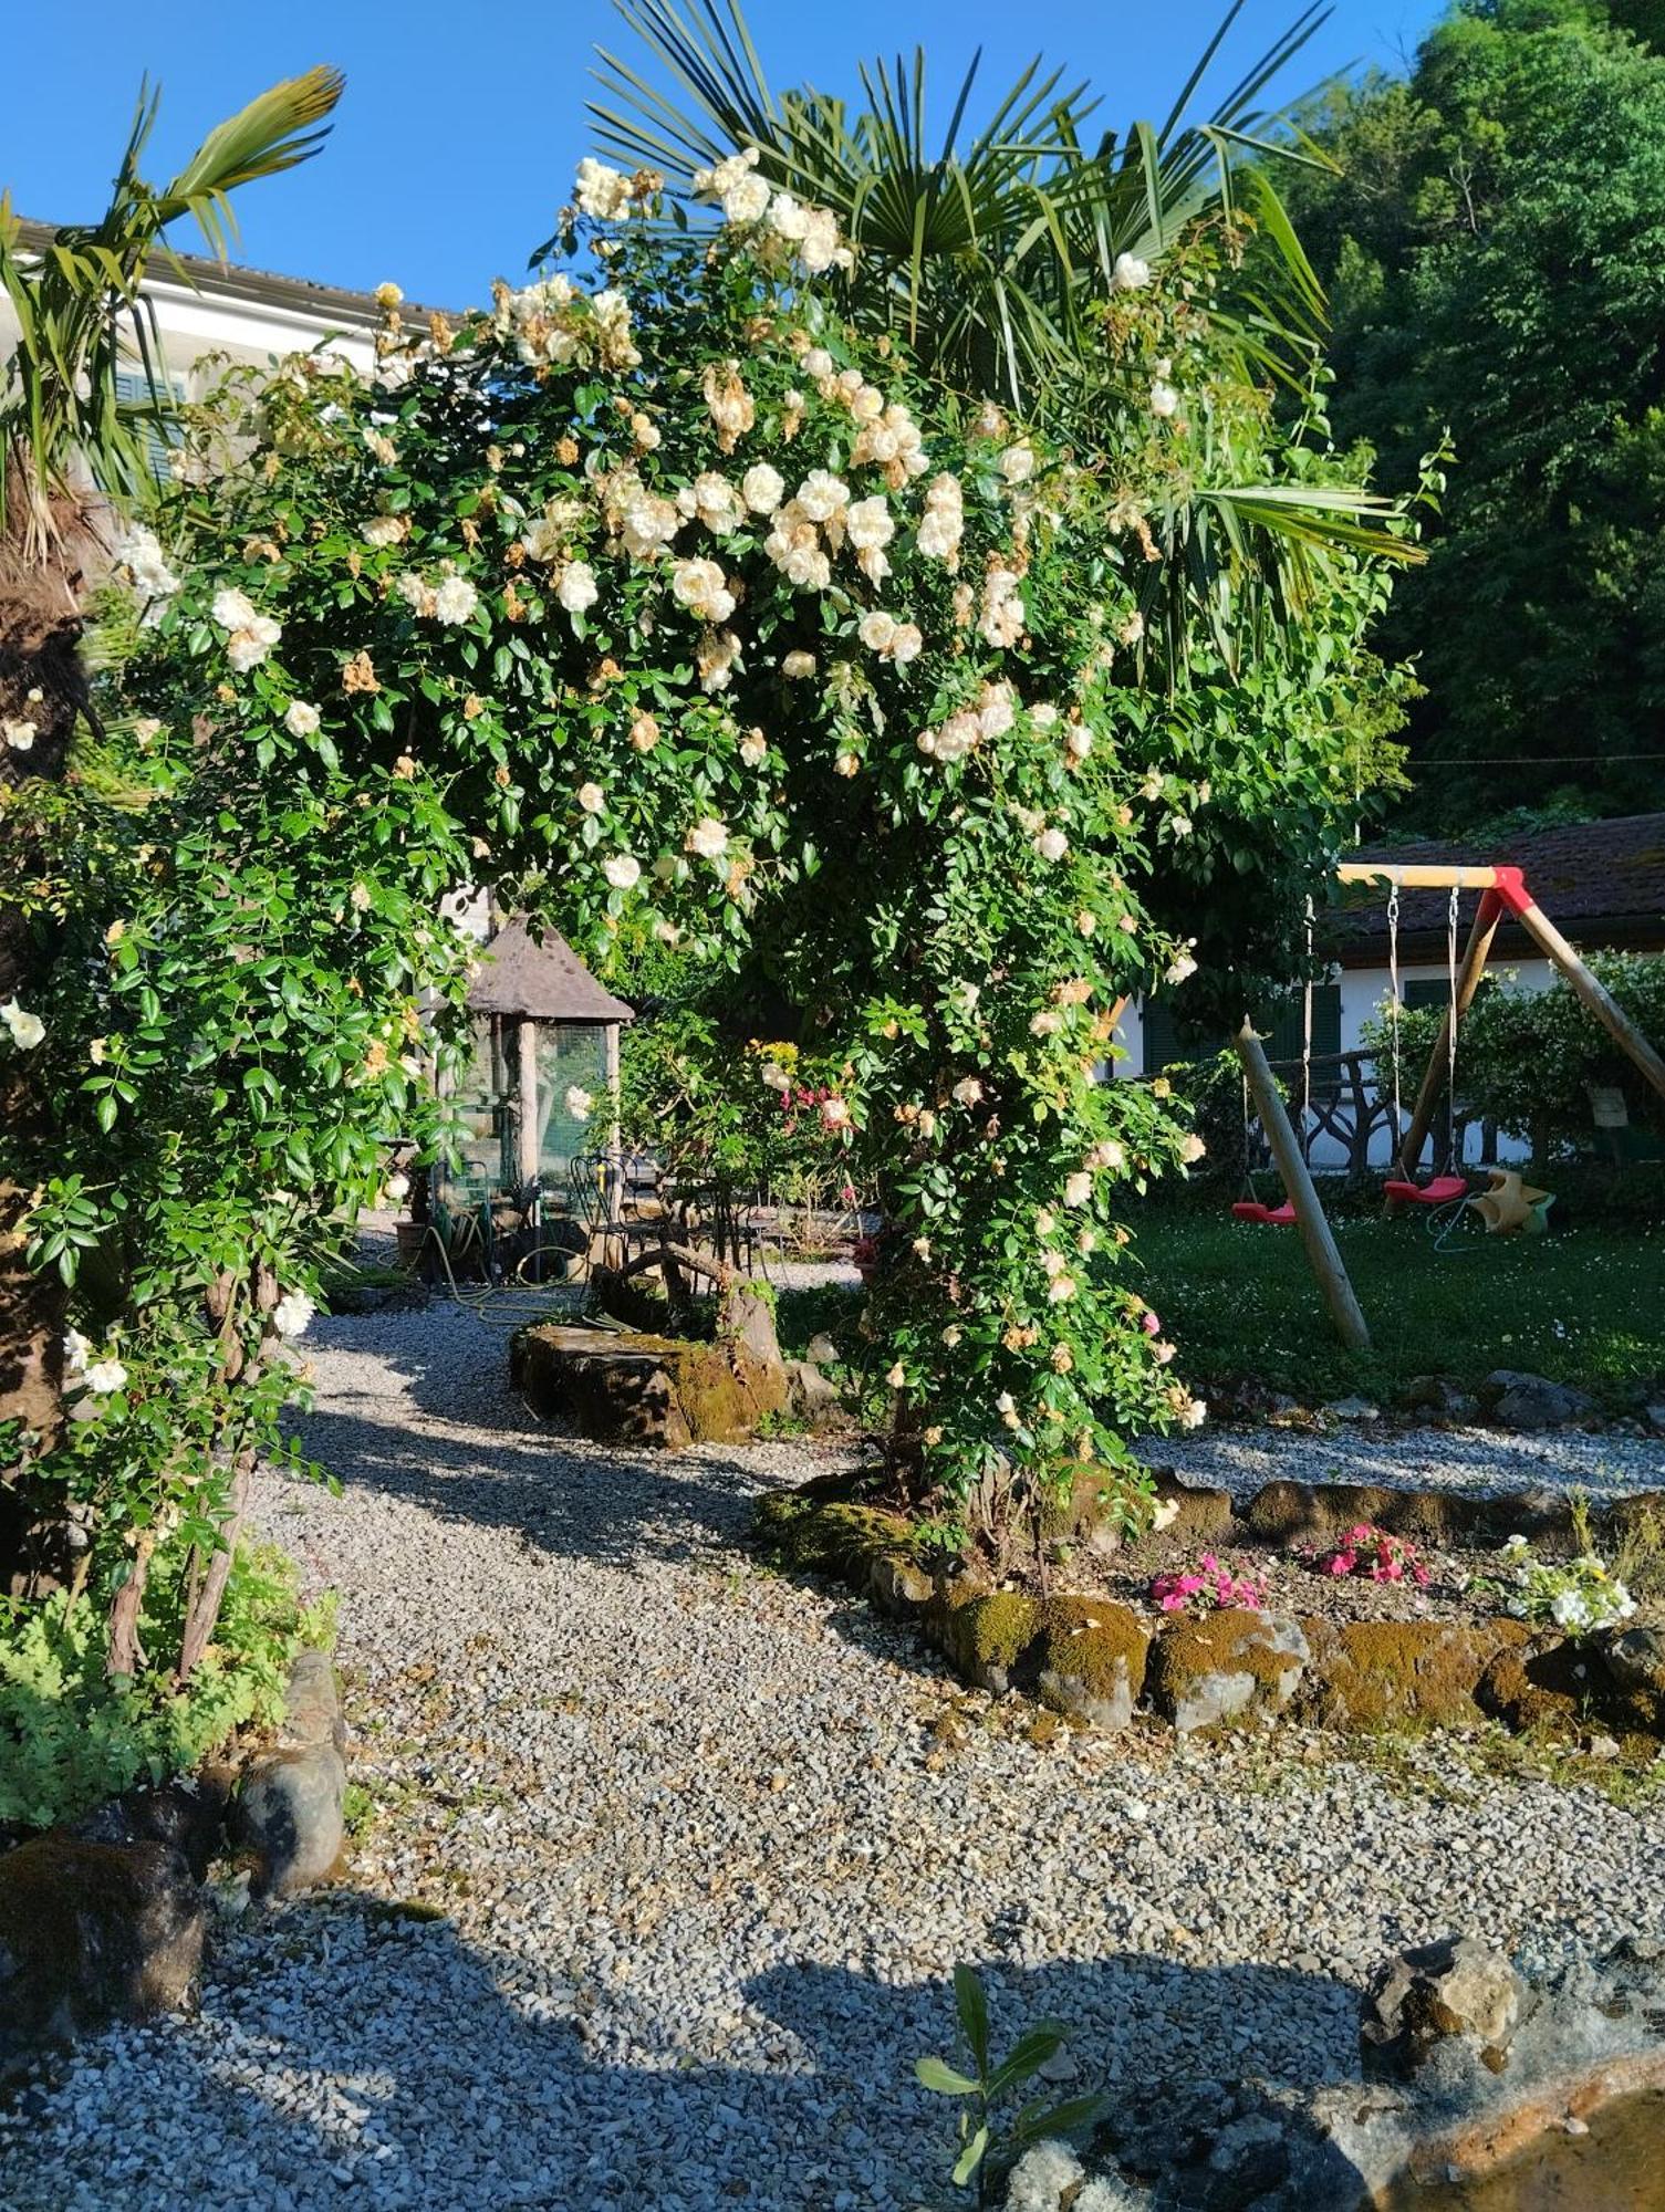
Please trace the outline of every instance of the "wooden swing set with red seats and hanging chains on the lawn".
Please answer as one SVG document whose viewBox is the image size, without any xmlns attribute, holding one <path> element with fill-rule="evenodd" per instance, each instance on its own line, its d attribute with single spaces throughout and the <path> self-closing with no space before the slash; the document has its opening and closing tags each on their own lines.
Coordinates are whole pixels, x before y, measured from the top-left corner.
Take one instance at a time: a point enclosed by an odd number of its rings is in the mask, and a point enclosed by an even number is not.
<svg viewBox="0 0 1665 2212">
<path fill-rule="evenodd" d="M 1464 1015 L 1475 1002 L 1481 978 L 1486 973 L 1486 962 L 1492 951 L 1492 940 L 1510 916 L 1532 945 L 1550 960 L 1550 964 L 1561 973 L 1572 987 L 1579 1002 L 1594 1015 L 1596 1022 L 1607 1031 L 1621 1053 L 1643 1073 L 1647 1084 L 1665 1097 L 1665 1060 L 1654 1051 L 1654 1046 L 1643 1037 L 1630 1015 L 1619 1006 L 1612 993 L 1590 973 L 1585 962 L 1579 958 L 1572 945 L 1561 936 L 1554 922 L 1543 914 L 1539 902 L 1532 898 L 1526 874 L 1519 867 L 1435 867 L 1435 865 L 1393 865 L 1382 860 L 1346 860 L 1337 869 L 1342 883 L 1386 883 L 1388 885 L 1388 971 L 1393 984 L 1390 1000 L 1390 1024 L 1393 1024 L 1393 1133 L 1397 1137 L 1393 1150 L 1393 1172 L 1382 1186 L 1382 1197 L 1386 1201 L 1386 1212 L 1399 1214 L 1406 1206 L 1428 1208 L 1430 1228 L 1437 1232 L 1439 1243 L 1446 1241 L 1450 1230 L 1464 1214 L 1466 1206 L 1479 1208 L 1490 1230 L 1512 1230 L 1528 1228 L 1532 1221 L 1541 1228 L 1543 1212 L 1548 1210 L 1548 1192 L 1528 1192 L 1521 1188 L 1519 1175 L 1512 1170 L 1492 1168 L 1492 1190 L 1479 1199 L 1468 1194 L 1468 1177 L 1464 1164 L 1457 1157 L 1457 1031 Z M 1402 891 L 1448 891 L 1446 907 L 1446 971 L 1448 971 L 1448 1000 L 1446 1015 L 1439 1024 L 1439 1040 L 1428 1057 L 1428 1068 L 1417 1088 L 1417 1099 L 1410 1108 L 1410 1119 L 1404 1119 L 1404 1106 L 1399 1099 L 1399 1009 L 1404 1002 L 1399 989 L 1399 894 Z M 1475 925 L 1468 933 L 1468 945 L 1464 947 L 1461 962 L 1457 960 L 1457 905 L 1464 891 L 1479 891 L 1479 909 L 1475 914 Z M 1311 1115 L 1311 1064 L 1313 1064 L 1313 902 L 1306 902 L 1306 993 L 1302 1009 L 1302 1128 L 1306 1128 Z M 1289 1113 L 1284 1108 L 1282 1095 L 1266 1064 L 1266 1053 L 1262 1051 L 1260 1037 L 1255 1035 L 1253 1022 L 1244 1015 L 1238 1035 L 1233 1037 L 1238 1057 L 1242 1060 L 1244 1077 L 1244 1117 L 1249 1102 L 1260 1117 L 1260 1126 L 1266 1133 L 1266 1144 L 1271 1146 L 1273 1164 L 1284 1181 L 1284 1203 L 1262 1206 L 1253 1194 L 1240 1199 L 1231 1210 L 1240 1221 L 1258 1221 L 1273 1225 L 1293 1225 L 1302 1232 L 1306 1245 L 1306 1256 L 1311 1261 L 1313 1274 L 1320 1281 L 1324 1298 L 1331 1310 L 1331 1318 L 1340 1336 L 1357 1352 L 1368 1352 L 1371 1329 L 1364 1321 L 1364 1312 L 1348 1281 L 1346 1267 L 1342 1265 L 1342 1254 L 1335 1248 L 1335 1237 L 1324 1217 L 1324 1208 L 1317 1201 L 1317 1190 L 1313 1186 L 1311 1164 L 1306 1157 L 1306 1146 L 1295 1135 Z M 1417 1181 L 1417 1168 L 1421 1161 L 1421 1148 L 1428 1141 L 1428 1133 L 1435 1121 L 1435 1110 L 1439 1108 L 1441 1093 L 1446 1097 L 1446 1157 L 1428 1181 Z M 1309 1137 L 1311 1144 L 1311 1137 Z"/>
</svg>

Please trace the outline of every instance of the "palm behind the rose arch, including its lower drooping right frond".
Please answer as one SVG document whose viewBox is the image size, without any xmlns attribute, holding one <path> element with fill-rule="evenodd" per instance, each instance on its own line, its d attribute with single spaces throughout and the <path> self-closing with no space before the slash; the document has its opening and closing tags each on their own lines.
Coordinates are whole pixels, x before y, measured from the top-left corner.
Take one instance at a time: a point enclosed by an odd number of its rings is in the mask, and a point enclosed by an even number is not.
<svg viewBox="0 0 1665 2212">
<path fill-rule="evenodd" d="M 1211 303 L 1216 345 L 1247 383 L 1280 383 L 1304 409 L 1324 343 L 1324 292 L 1273 181 L 1278 164 L 1331 166 L 1266 106 L 1273 80 L 1326 20 L 1309 4 L 1202 122 L 1191 108 L 1244 0 L 1231 0 L 1162 124 L 1094 128 L 1098 100 L 1032 62 L 965 135 L 976 60 L 948 128 L 928 142 L 925 58 L 870 62 L 866 106 L 804 86 L 775 95 L 740 0 L 616 0 L 678 93 L 660 91 L 607 49 L 591 102 L 598 144 L 653 168 L 673 199 L 742 146 L 779 190 L 830 208 L 857 246 L 857 321 L 906 341 L 919 365 L 970 398 L 1016 407 L 1076 447 L 1094 447 L 1098 398 L 1094 310 L 1116 263 L 1158 268 L 1209 215 L 1251 215 L 1255 250 Z M 686 221 L 686 212 L 678 208 Z M 1229 478 L 1229 465 L 1224 467 Z M 1147 626 L 1180 670 L 1198 624 L 1235 666 L 1266 622 L 1300 619 L 1315 564 L 1335 549 L 1419 557 L 1402 507 L 1333 482 L 1193 482 L 1165 500 L 1151 531 L 1162 551 L 1142 580 Z"/>
</svg>

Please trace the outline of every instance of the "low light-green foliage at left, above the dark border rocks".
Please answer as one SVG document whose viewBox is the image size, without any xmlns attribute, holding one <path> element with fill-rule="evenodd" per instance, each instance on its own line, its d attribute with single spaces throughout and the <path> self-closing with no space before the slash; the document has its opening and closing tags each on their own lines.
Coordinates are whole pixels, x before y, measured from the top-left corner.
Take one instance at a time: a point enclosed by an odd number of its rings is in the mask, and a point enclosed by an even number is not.
<svg viewBox="0 0 1665 2212">
<path fill-rule="evenodd" d="M 146 1586 L 142 1632 L 177 1650 L 182 1557 Z M 0 1599 L 0 1823 L 49 1827 L 91 1805 L 201 1763 L 237 1728 L 270 1725 L 290 1663 L 332 1639 L 328 1606 L 301 1606 L 281 1553 L 239 1553 L 215 1644 L 175 1694 L 159 1672 L 111 1681 L 104 1608 L 58 1593 Z"/>
</svg>

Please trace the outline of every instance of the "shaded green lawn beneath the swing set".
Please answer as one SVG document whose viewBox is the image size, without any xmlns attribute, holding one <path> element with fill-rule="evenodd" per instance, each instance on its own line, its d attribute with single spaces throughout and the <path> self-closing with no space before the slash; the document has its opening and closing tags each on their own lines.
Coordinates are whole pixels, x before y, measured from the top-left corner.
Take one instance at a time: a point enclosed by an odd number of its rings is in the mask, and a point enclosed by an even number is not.
<svg viewBox="0 0 1665 2212">
<path fill-rule="evenodd" d="M 1590 1223 L 1537 1239 L 1464 1234 L 1435 1252 L 1415 1219 L 1335 1221 L 1375 1349 L 1335 1338 L 1293 1228 L 1147 1210 L 1136 1276 L 1193 1385 L 1255 1380 L 1304 1405 L 1472 1387 L 1519 1367 L 1619 1411 L 1665 1385 L 1665 1228 Z"/>
</svg>

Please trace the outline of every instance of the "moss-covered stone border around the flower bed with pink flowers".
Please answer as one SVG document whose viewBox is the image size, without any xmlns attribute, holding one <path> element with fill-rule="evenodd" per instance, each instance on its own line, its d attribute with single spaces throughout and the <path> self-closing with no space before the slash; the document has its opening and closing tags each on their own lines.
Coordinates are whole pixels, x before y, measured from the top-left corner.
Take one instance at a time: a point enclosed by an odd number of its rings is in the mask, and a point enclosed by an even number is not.
<svg viewBox="0 0 1665 2212">
<path fill-rule="evenodd" d="M 1162 1491 L 1185 1489 L 1162 1478 Z M 1269 1500 L 1269 1491 L 1278 1493 Z M 1295 1495 L 1291 1495 L 1295 1493 Z M 1362 1484 L 1266 1484 L 1240 1526 L 1262 1533 L 1278 1517 L 1286 1542 L 1317 1540 L 1355 1520 L 1377 1520 L 1382 1500 L 1446 1493 L 1379 1491 Z M 1178 1502 L 1187 1526 L 1216 1540 L 1224 1491 L 1191 1491 Z M 1266 1502 L 1266 1513 L 1255 1509 Z M 1486 1506 L 1486 1531 L 1510 1535 L 1506 1500 Z M 1650 1493 L 1665 1513 L 1665 1498 Z M 1550 1504 L 1532 1495 L 1530 1528 L 1543 1531 Z M 1623 1500 L 1610 1509 L 1643 1509 Z M 1397 1526 L 1410 1533 L 1410 1511 Z M 1178 1520 L 1171 1526 L 1180 1524 Z M 1479 1515 L 1470 1526 L 1479 1524 Z M 1025 1590 L 994 1588 L 985 1568 L 930 1566 L 914 1524 L 852 1495 L 852 1478 L 821 1475 L 795 1491 L 771 1491 L 757 1506 L 757 1542 L 782 1566 L 830 1575 L 868 1597 L 890 1619 L 910 1621 L 954 1674 L 992 1697 L 1016 1690 L 1092 1730 L 1125 1728 L 1149 1712 L 1180 1734 L 1211 1732 L 1258 1712 L 1351 1734 L 1413 1728 L 1475 1728 L 1497 1721 L 1517 1734 L 1574 1734 L 1599 1728 L 1625 1747 L 1652 1754 L 1665 1739 L 1665 1683 L 1643 1681 L 1625 1655 L 1607 1663 L 1614 1637 L 1541 1635 L 1501 1615 L 1472 1621 L 1333 1621 L 1320 1615 L 1218 1610 L 1142 1619 L 1131 1606 L 1092 1595 L 1043 1604 Z M 1426 1524 L 1417 1528 L 1426 1533 Z M 1444 1531 L 1452 1540 L 1450 1528 Z M 1634 1637 L 1634 1630 L 1630 1632 Z"/>
</svg>

